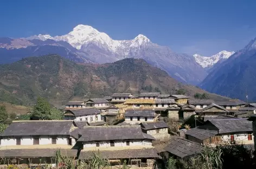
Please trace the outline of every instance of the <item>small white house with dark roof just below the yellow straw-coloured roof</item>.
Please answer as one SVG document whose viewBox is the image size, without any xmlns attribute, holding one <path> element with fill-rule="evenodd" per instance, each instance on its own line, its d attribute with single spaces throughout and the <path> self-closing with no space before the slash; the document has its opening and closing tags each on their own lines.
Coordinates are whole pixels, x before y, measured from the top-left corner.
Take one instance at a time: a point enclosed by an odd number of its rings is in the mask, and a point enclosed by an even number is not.
<svg viewBox="0 0 256 169">
<path fill-rule="evenodd" d="M 153 122 L 156 121 L 158 115 L 152 109 L 127 109 L 125 111 L 125 122 L 136 124 L 138 122 Z"/>
</svg>

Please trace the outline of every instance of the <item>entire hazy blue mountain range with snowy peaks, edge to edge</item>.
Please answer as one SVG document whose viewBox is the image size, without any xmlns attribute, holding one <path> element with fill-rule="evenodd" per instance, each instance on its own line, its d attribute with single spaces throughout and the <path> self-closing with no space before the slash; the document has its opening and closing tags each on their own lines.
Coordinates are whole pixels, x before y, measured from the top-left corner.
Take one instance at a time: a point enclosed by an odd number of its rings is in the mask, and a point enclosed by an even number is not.
<svg viewBox="0 0 256 169">
<path fill-rule="evenodd" d="M 245 99 L 247 91 L 249 97 L 256 100 L 253 86 L 256 76 L 255 39 L 236 53 L 223 50 L 206 57 L 175 53 L 141 34 L 132 40 L 113 40 L 88 25 L 77 25 L 61 36 L 40 34 L 27 38 L 0 38 L 0 64 L 49 54 L 58 54 L 77 63 L 104 64 L 126 58 L 143 59 L 182 83 L 239 99 Z"/>
</svg>

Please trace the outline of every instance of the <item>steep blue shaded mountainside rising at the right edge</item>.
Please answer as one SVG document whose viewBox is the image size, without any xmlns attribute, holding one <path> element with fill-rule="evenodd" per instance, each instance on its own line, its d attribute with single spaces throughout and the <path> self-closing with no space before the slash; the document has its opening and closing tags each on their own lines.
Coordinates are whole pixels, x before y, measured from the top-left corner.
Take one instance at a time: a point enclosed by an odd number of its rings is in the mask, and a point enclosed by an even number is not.
<svg viewBox="0 0 256 169">
<path fill-rule="evenodd" d="M 256 38 L 228 60 L 217 65 L 201 83 L 212 93 L 245 100 L 256 100 Z"/>
</svg>

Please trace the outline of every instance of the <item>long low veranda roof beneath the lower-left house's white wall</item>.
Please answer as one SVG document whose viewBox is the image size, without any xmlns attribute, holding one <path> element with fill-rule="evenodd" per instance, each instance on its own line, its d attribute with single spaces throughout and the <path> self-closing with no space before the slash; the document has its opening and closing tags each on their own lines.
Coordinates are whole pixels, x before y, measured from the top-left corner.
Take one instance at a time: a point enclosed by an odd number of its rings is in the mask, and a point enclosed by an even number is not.
<svg viewBox="0 0 256 169">
<path fill-rule="evenodd" d="M 0 150 L 0 157 L 28 157 L 28 158 L 34 158 L 34 157 L 54 157 L 55 152 L 58 149 L 9 149 L 9 150 Z M 70 149 L 70 150 L 63 150 L 61 149 L 61 154 L 69 156 L 69 157 L 76 157 L 76 154 L 78 150 Z"/>
</svg>

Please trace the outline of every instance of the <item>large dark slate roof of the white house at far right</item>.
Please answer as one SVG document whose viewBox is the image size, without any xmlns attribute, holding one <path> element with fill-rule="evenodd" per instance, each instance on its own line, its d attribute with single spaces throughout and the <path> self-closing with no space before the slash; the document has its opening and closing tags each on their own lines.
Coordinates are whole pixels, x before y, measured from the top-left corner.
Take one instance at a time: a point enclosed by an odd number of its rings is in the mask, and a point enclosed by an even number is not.
<svg viewBox="0 0 256 169">
<path fill-rule="evenodd" d="M 247 119 L 217 119 L 208 121 L 219 129 L 220 134 L 252 132 L 252 122 Z"/>
</svg>

